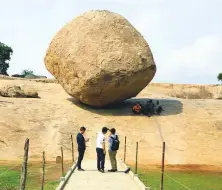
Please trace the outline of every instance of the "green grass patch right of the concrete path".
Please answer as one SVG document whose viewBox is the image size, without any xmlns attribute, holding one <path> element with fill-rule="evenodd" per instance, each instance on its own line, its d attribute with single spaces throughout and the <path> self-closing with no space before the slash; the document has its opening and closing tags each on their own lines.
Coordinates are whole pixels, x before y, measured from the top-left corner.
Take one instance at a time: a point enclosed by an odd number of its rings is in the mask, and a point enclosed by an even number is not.
<svg viewBox="0 0 222 190">
<path fill-rule="evenodd" d="M 152 190 L 160 189 L 160 172 L 139 169 L 139 178 Z M 164 190 L 222 190 L 222 174 L 198 171 L 166 171 Z M 177 181 L 177 182 L 176 182 Z M 184 185 L 184 186 L 183 186 Z M 186 187 L 187 188 L 186 188 Z"/>
</svg>

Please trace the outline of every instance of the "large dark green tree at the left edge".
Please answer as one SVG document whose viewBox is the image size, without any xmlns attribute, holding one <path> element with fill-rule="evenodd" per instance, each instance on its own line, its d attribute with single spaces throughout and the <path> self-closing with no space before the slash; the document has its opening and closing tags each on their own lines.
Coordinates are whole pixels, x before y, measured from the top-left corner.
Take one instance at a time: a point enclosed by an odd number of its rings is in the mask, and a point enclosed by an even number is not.
<svg viewBox="0 0 222 190">
<path fill-rule="evenodd" d="M 9 68 L 9 61 L 13 50 L 11 47 L 0 42 L 0 74 L 8 75 L 7 70 Z"/>
</svg>

